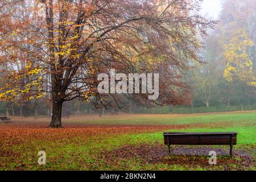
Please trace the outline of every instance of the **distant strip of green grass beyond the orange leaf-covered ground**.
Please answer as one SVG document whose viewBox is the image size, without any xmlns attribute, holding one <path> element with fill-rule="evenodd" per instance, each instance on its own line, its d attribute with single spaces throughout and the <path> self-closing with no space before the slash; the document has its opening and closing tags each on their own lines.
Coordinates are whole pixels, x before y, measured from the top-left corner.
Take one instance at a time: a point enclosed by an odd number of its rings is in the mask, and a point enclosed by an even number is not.
<svg viewBox="0 0 256 182">
<path fill-rule="evenodd" d="M 179 125 L 189 123 L 212 123 L 212 122 L 236 122 L 248 123 L 256 121 L 256 111 L 254 113 L 221 113 L 221 114 L 189 114 L 175 115 L 171 114 L 160 115 L 158 118 L 146 117 L 145 114 L 137 114 L 134 117 L 121 118 L 102 118 L 102 119 L 86 119 L 85 121 L 75 121 L 85 124 L 100 124 L 100 125 Z M 65 120 L 63 120 L 65 124 Z"/>
</svg>

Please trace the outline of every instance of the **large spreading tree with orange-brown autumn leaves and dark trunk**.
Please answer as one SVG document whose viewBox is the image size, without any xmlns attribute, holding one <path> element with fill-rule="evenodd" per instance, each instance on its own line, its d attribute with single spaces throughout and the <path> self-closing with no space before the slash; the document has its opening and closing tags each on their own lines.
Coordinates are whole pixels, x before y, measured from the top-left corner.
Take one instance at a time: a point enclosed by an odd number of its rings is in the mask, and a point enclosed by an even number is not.
<svg viewBox="0 0 256 182">
<path fill-rule="evenodd" d="M 196 14 L 199 7 L 200 1 L 190 0 L 3 0 L 1 63 L 24 65 L 3 73 L 8 94 L 29 92 L 34 99 L 51 93 L 49 127 L 61 127 L 65 101 L 118 102 L 117 94 L 97 92 L 98 73 L 114 68 L 159 73 L 158 100 L 126 96 L 139 104 L 189 103 L 182 75 L 191 61 L 200 61 L 197 35 L 205 36 L 214 24 Z"/>
</svg>

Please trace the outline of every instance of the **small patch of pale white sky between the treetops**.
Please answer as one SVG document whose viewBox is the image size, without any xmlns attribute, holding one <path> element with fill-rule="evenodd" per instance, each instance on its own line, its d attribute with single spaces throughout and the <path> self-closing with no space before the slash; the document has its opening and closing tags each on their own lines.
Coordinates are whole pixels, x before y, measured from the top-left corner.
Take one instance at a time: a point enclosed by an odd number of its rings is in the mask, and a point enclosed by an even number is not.
<svg viewBox="0 0 256 182">
<path fill-rule="evenodd" d="M 202 15 L 206 15 L 209 18 L 217 19 L 218 14 L 221 11 L 222 5 L 221 5 L 222 0 L 204 0 L 201 7 L 200 13 Z"/>
</svg>

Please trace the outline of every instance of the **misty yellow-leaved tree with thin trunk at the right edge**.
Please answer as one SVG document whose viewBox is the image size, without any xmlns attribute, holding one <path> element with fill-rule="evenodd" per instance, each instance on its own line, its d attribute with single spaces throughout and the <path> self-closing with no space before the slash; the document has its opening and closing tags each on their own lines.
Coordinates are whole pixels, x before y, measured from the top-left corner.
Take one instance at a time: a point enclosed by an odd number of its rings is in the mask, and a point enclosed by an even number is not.
<svg viewBox="0 0 256 182">
<path fill-rule="evenodd" d="M 234 31 L 230 40 L 223 44 L 224 58 L 226 67 L 224 69 L 224 78 L 228 82 L 238 81 L 240 85 L 240 101 L 242 106 L 242 84 L 246 83 L 256 87 L 255 72 L 253 61 L 247 51 L 254 43 L 249 39 L 247 32 L 243 28 Z"/>
</svg>

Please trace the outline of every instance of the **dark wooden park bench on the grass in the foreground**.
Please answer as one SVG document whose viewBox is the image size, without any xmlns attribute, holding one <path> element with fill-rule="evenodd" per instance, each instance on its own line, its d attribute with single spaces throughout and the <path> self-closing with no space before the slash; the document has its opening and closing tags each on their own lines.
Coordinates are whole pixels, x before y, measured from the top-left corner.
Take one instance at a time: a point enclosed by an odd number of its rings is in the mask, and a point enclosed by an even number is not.
<svg viewBox="0 0 256 182">
<path fill-rule="evenodd" d="M 229 145 L 233 154 L 233 145 L 237 144 L 236 132 L 223 133 L 186 133 L 186 132 L 164 132 L 164 144 L 167 144 L 169 154 L 171 144 L 181 145 Z"/>
</svg>

